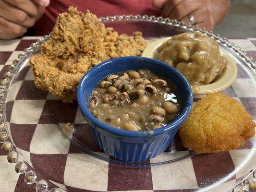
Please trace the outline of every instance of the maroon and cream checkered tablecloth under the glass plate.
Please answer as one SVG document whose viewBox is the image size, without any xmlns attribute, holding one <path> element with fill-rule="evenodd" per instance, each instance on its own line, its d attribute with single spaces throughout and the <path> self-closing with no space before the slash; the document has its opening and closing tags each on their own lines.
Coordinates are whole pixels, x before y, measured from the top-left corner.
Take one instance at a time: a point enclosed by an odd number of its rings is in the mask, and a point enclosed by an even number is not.
<svg viewBox="0 0 256 192">
<path fill-rule="evenodd" d="M 39 37 L 23 37 L 9 41 L 0 40 L 0 77 L 7 72 L 12 60 L 35 42 Z M 231 39 L 249 56 L 256 58 L 256 38 Z M 245 72 L 246 67 L 238 66 L 234 84 L 223 92 L 236 98 L 256 120 L 255 81 Z M 246 141 L 244 147 L 220 154 L 197 155 L 167 165 L 151 168 L 130 168 L 112 165 L 75 149 L 73 144 L 61 134 L 58 126 L 66 122 L 75 124 L 74 137 L 80 138 L 85 146 L 96 152 L 102 151 L 93 142 L 77 103 L 62 103 L 59 98 L 39 90 L 34 85 L 34 77 L 25 67 L 9 91 L 7 121 L 11 127 L 12 139 L 33 168 L 38 177 L 52 182 L 70 192 L 192 192 L 216 183 L 211 191 L 222 191 L 223 187 L 233 186 L 256 161 L 241 162 L 249 156 L 256 159 L 256 137 Z M 26 90 L 26 92 L 24 92 Z M 32 94 L 33 93 L 33 94 Z M 199 98 L 195 98 L 198 100 Z M 176 143 L 180 141 L 176 138 Z M 182 145 L 175 153 L 164 153 L 151 162 L 170 159 L 170 156 L 184 156 L 190 151 Z M 229 173 L 235 171 L 231 177 Z M 40 175 L 43 174 L 43 175 Z M 52 186 L 52 185 L 51 185 Z M 35 184 L 24 183 L 24 175 L 14 171 L 14 165 L 7 162 L 7 156 L 0 152 L 0 192 L 35 192 Z"/>
</svg>

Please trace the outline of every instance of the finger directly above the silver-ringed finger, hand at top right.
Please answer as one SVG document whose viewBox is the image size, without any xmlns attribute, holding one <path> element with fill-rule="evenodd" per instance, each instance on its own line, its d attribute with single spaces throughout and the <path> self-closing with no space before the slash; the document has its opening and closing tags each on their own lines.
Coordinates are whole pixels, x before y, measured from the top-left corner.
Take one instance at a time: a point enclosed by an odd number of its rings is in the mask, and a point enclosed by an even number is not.
<svg viewBox="0 0 256 192">
<path fill-rule="evenodd" d="M 201 3 L 198 0 L 185 0 L 172 9 L 169 17 L 179 21 L 187 14 L 198 10 L 200 6 Z"/>
</svg>

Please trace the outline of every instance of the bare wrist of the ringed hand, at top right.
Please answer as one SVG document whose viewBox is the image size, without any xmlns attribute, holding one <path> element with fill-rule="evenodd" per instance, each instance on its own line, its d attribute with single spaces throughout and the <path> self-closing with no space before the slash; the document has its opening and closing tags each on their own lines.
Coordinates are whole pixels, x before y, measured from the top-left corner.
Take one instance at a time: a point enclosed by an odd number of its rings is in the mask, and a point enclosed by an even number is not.
<svg viewBox="0 0 256 192">
<path fill-rule="evenodd" d="M 218 25 L 229 12 L 230 0 L 211 0 L 214 26 Z"/>
</svg>

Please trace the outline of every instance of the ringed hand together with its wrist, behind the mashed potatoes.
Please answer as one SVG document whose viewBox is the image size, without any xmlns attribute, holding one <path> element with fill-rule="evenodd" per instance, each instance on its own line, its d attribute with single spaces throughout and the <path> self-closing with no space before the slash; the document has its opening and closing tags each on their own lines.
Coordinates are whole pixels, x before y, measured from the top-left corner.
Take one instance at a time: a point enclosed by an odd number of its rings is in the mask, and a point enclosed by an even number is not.
<svg viewBox="0 0 256 192">
<path fill-rule="evenodd" d="M 163 17 L 189 24 L 187 15 L 191 14 L 196 25 L 211 31 L 228 13 L 230 0 L 152 0 L 151 3 L 162 10 Z"/>
</svg>

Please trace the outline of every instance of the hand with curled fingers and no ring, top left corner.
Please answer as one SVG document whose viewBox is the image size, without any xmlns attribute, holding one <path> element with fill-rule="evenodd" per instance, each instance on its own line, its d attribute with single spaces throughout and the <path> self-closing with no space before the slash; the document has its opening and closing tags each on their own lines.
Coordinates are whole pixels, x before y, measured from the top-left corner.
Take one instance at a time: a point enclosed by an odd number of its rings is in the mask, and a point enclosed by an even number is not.
<svg viewBox="0 0 256 192">
<path fill-rule="evenodd" d="M 49 0 L 0 0 L 0 39 L 24 35 L 48 5 Z"/>
</svg>

